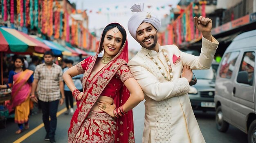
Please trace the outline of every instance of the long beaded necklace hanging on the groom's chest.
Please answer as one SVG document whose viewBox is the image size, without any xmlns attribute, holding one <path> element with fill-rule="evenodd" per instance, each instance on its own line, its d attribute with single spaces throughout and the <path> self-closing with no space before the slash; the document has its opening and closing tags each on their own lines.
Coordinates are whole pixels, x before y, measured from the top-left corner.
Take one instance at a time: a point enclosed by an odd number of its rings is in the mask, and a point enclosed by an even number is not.
<svg viewBox="0 0 256 143">
<path fill-rule="evenodd" d="M 152 61 L 155 63 L 155 65 L 157 65 L 159 71 L 160 71 L 161 74 L 164 76 L 164 78 L 166 78 L 166 80 L 170 81 L 170 80 L 173 79 L 173 73 L 172 73 L 173 70 L 172 70 L 172 67 L 171 67 L 171 62 L 169 61 L 168 56 L 167 56 L 167 53 L 165 52 L 165 50 L 162 50 L 162 52 L 163 52 L 163 54 L 164 54 L 164 56 L 165 56 L 165 60 L 166 60 L 167 65 L 168 65 L 168 69 L 169 69 L 169 72 L 170 72 L 170 78 L 168 78 L 168 76 L 165 76 L 164 71 L 163 71 L 163 70 L 161 69 L 161 67 L 158 65 L 157 61 L 153 58 L 153 56 L 151 56 L 149 53 L 148 53 L 148 55 L 146 55 L 146 56 L 148 56 L 148 58 L 150 58 L 150 60 L 152 60 Z"/>
</svg>

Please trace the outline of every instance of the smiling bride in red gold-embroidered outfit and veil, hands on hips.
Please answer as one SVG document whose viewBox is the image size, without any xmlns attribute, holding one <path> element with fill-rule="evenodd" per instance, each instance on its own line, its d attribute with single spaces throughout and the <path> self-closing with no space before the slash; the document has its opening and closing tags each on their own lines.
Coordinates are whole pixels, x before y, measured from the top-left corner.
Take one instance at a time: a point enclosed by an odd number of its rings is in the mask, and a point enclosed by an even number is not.
<svg viewBox="0 0 256 143">
<path fill-rule="evenodd" d="M 77 104 L 68 130 L 69 143 L 134 143 L 132 108 L 144 100 L 144 94 L 127 62 L 126 31 L 112 23 L 103 30 L 96 56 L 63 74 Z M 84 74 L 81 93 L 72 81 L 78 74 Z"/>
</svg>

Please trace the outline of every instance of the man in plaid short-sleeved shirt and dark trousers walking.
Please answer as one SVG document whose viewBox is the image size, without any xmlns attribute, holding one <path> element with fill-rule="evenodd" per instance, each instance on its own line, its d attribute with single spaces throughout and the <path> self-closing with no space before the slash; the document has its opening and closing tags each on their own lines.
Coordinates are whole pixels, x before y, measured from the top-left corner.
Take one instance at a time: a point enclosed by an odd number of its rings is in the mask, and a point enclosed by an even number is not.
<svg viewBox="0 0 256 143">
<path fill-rule="evenodd" d="M 64 83 L 62 78 L 62 69 L 59 65 L 53 63 L 53 53 L 47 51 L 44 54 L 45 63 L 36 66 L 34 72 L 34 81 L 32 83 L 31 100 L 38 102 L 35 91 L 38 86 L 39 104 L 42 108 L 43 123 L 47 132 L 45 141 L 55 143 L 54 135 L 57 126 L 56 113 L 58 103 L 61 105 L 65 99 Z M 61 93 L 61 96 L 60 96 Z M 51 121 L 49 120 L 51 117 Z"/>
</svg>

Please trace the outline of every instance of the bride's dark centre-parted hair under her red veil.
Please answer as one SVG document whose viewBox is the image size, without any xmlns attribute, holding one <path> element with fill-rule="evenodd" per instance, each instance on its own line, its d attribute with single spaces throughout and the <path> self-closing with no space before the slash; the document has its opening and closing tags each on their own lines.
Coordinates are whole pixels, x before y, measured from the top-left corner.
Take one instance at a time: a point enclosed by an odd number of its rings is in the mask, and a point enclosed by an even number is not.
<svg viewBox="0 0 256 143">
<path fill-rule="evenodd" d="M 99 53 L 102 52 L 102 43 L 105 39 L 105 35 L 106 33 L 112 29 L 112 28 L 115 28 L 117 26 L 117 28 L 119 29 L 119 31 L 121 32 L 121 34 L 123 35 L 123 39 L 122 39 L 122 44 L 121 44 L 121 47 L 123 47 L 125 41 L 126 41 L 126 31 L 125 29 L 118 23 L 112 23 L 112 24 L 108 24 L 108 26 L 106 26 L 102 32 L 102 37 L 101 37 L 101 42 L 100 42 L 100 45 L 99 45 Z"/>
</svg>

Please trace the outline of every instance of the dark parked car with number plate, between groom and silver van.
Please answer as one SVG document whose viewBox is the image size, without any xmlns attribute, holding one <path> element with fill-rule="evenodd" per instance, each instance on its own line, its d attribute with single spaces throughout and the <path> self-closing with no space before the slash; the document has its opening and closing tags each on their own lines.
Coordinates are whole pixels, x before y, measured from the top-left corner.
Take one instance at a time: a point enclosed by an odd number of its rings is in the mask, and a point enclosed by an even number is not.
<svg viewBox="0 0 256 143">
<path fill-rule="evenodd" d="M 218 64 L 218 63 L 217 63 Z M 216 63 L 214 63 L 216 65 Z M 212 65 L 213 66 L 213 65 Z M 215 111 L 215 75 L 213 67 L 204 70 L 193 70 L 197 79 L 196 85 L 190 86 L 189 98 L 193 110 Z"/>
</svg>

